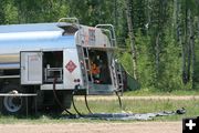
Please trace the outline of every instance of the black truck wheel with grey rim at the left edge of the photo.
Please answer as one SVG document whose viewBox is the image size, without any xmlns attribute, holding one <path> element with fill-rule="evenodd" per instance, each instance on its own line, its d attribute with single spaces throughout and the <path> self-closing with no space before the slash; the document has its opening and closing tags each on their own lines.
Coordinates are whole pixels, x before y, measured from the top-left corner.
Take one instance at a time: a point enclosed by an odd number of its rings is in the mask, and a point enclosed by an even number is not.
<svg viewBox="0 0 199 133">
<path fill-rule="evenodd" d="M 2 93 L 23 93 L 18 85 L 4 86 Z M 25 113 L 25 98 L 23 96 L 3 96 L 0 99 L 2 114 L 24 114 Z"/>
</svg>

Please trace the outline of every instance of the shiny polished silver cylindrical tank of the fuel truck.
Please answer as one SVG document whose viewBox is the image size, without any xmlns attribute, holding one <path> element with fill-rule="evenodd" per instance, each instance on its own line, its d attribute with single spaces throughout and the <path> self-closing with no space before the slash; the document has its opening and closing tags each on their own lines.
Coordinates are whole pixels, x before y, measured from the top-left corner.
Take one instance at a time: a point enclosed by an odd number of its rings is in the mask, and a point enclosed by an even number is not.
<svg viewBox="0 0 199 133">
<path fill-rule="evenodd" d="M 75 48 L 74 35 L 63 35 L 57 23 L 0 25 L 0 69 L 18 69 L 20 51 Z"/>
</svg>

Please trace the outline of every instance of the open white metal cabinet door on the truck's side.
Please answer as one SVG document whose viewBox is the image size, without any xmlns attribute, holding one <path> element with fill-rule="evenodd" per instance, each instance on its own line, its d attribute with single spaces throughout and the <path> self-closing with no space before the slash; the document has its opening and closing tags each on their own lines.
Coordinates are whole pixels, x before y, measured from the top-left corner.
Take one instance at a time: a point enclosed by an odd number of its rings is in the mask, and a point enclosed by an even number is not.
<svg viewBox="0 0 199 133">
<path fill-rule="evenodd" d="M 21 84 L 42 84 L 42 52 L 21 52 Z"/>
</svg>

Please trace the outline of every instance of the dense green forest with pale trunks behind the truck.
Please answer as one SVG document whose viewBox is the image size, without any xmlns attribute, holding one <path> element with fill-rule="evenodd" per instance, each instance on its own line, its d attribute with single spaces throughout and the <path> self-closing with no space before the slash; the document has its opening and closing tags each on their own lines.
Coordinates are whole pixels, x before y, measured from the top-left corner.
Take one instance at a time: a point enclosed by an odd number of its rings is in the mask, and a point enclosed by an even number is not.
<svg viewBox="0 0 199 133">
<path fill-rule="evenodd" d="M 114 24 L 119 61 L 142 88 L 199 88 L 198 0 L 0 0 L 0 24 L 62 17 Z"/>
</svg>

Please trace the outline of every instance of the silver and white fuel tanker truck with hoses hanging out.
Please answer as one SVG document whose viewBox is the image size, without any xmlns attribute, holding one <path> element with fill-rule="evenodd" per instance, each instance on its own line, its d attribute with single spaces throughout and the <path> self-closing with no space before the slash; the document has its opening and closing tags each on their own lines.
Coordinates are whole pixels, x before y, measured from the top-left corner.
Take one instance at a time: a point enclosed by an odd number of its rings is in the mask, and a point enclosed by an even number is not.
<svg viewBox="0 0 199 133">
<path fill-rule="evenodd" d="M 122 90 L 116 48 L 112 24 L 87 27 L 76 18 L 62 18 L 52 23 L 0 25 L 0 112 L 63 111 L 71 108 L 74 94 Z"/>
</svg>

